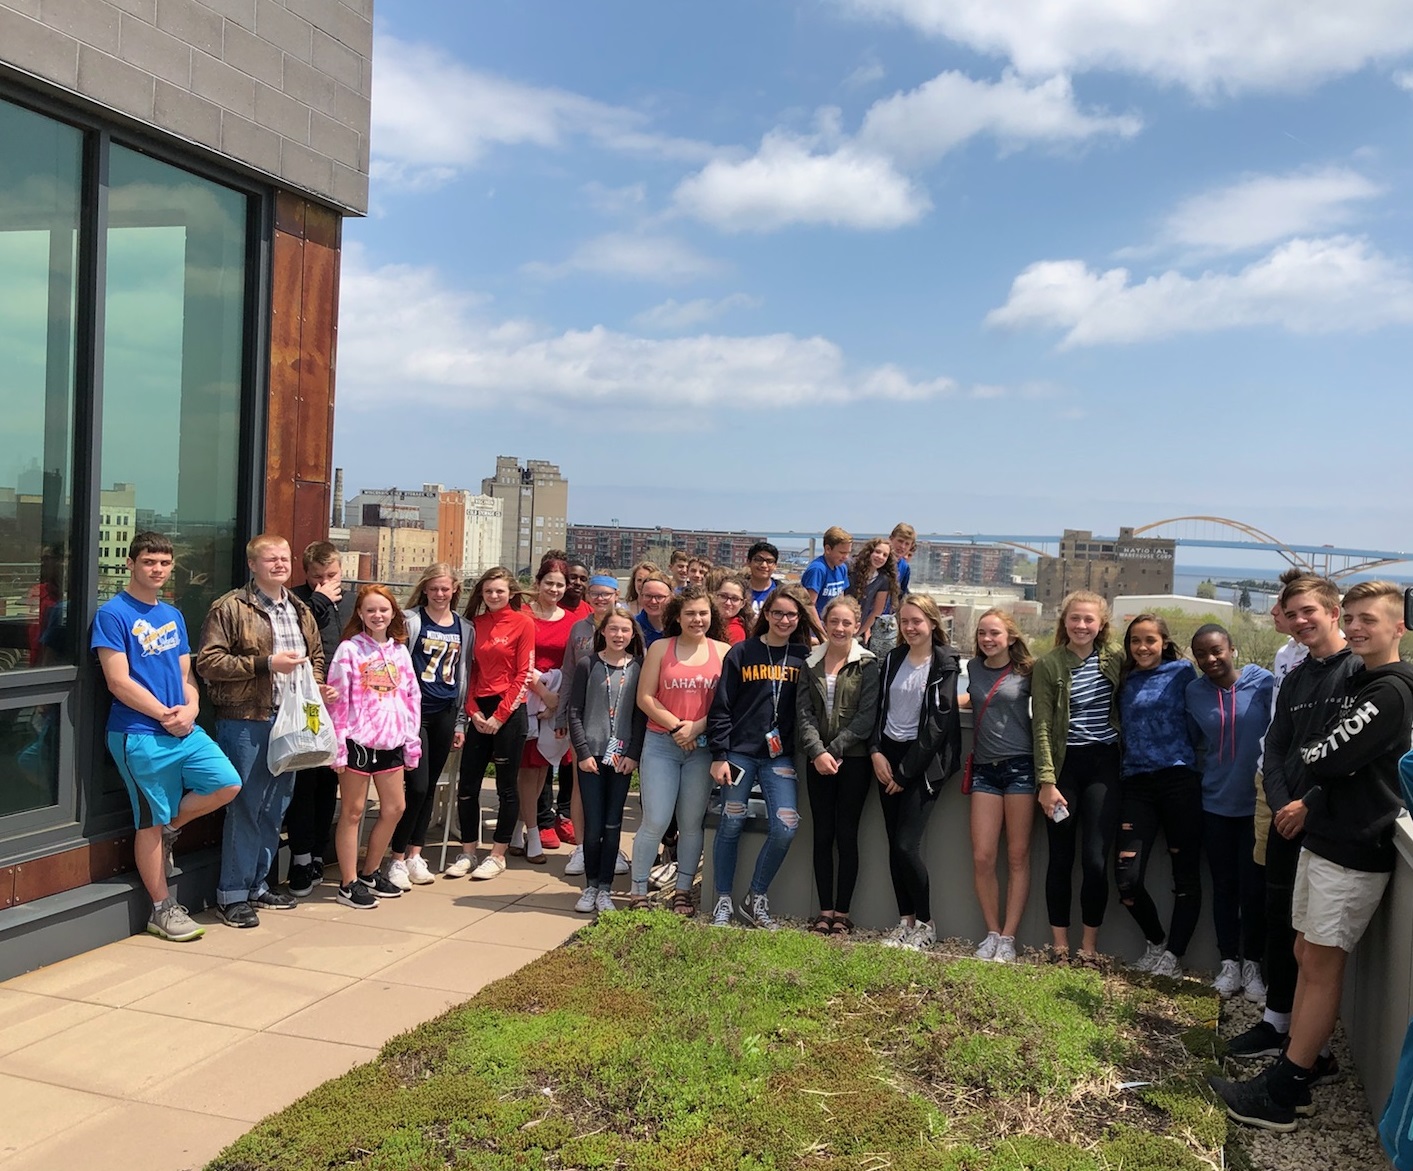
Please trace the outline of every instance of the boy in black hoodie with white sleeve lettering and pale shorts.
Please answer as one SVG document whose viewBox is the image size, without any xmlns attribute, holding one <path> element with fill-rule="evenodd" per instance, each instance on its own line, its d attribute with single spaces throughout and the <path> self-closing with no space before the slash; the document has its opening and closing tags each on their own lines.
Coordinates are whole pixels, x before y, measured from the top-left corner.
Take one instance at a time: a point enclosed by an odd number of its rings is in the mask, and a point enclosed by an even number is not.
<svg viewBox="0 0 1413 1171">
<path fill-rule="evenodd" d="M 1275 821 L 1282 835 L 1293 819 L 1304 828 L 1291 911 L 1300 976 L 1289 1044 L 1249 1082 L 1212 1079 L 1231 1117 L 1266 1130 L 1294 1130 L 1296 1114 L 1313 1113 L 1310 1088 L 1328 1078 L 1320 1055 L 1340 1016 L 1345 962 L 1389 884 L 1393 822 L 1403 808 L 1399 759 L 1413 723 L 1413 667 L 1399 661 L 1403 590 L 1359 582 L 1344 598 L 1344 629 L 1364 670 L 1345 677 L 1334 719 L 1300 746 L 1306 785 L 1291 802 L 1300 808 L 1280 809 Z M 1282 694 L 1304 670 L 1290 674 Z"/>
</svg>

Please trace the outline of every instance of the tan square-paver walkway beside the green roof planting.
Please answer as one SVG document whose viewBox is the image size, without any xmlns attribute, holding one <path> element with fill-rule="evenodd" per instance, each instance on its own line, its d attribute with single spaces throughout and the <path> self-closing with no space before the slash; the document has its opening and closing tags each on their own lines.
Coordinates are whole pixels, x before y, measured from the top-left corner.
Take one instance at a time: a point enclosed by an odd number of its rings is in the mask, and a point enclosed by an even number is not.
<svg viewBox="0 0 1413 1171">
<path fill-rule="evenodd" d="M 373 911 L 341 905 L 329 881 L 254 929 L 208 911 L 195 942 L 137 935 L 0 985 L 0 1171 L 201 1167 L 564 942 L 588 921 L 568 857 L 438 877 Z"/>
</svg>

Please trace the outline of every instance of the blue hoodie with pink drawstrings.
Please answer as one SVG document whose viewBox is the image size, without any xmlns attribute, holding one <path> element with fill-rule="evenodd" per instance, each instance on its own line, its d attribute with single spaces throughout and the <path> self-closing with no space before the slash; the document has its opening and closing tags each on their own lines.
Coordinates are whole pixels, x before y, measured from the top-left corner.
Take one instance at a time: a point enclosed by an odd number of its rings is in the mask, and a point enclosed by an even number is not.
<svg viewBox="0 0 1413 1171">
<path fill-rule="evenodd" d="M 1248 662 L 1236 682 L 1217 686 L 1205 675 L 1187 685 L 1187 722 L 1202 757 L 1202 809 L 1224 818 L 1256 812 L 1256 767 L 1270 723 L 1276 677 Z"/>
</svg>

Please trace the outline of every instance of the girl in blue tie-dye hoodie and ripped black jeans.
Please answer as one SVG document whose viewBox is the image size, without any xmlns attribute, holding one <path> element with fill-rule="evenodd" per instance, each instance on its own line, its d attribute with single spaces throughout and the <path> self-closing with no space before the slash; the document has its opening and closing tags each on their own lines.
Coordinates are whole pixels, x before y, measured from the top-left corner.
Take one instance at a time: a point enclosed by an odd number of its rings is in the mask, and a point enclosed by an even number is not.
<svg viewBox="0 0 1413 1171">
<path fill-rule="evenodd" d="M 1119 852 L 1113 877 L 1147 948 L 1133 968 L 1181 976 L 1183 953 L 1202 908 L 1202 778 L 1187 729 L 1187 685 L 1197 672 L 1157 614 L 1139 614 L 1123 634 L 1123 723 Z M 1167 935 L 1143 884 L 1157 832 L 1173 863 L 1173 917 Z"/>
</svg>

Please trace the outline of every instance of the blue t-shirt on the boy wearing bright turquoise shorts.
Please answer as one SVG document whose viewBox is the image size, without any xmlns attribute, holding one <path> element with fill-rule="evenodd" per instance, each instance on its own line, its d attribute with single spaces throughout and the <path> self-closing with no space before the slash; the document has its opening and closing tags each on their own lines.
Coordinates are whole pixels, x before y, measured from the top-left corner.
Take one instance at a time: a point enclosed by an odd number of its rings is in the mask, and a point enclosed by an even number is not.
<svg viewBox="0 0 1413 1171">
<path fill-rule="evenodd" d="M 187 641 L 187 622 L 175 606 L 165 602 L 148 606 L 124 589 L 99 607 L 90 646 L 93 650 L 114 650 L 126 655 L 127 674 L 147 688 L 158 703 L 179 708 L 187 702 L 181 658 L 191 654 L 191 644 Z M 120 699 L 113 699 L 109 709 L 107 730 L 171 735 L 155 719 L 134 712 Z"/>
</svg>

